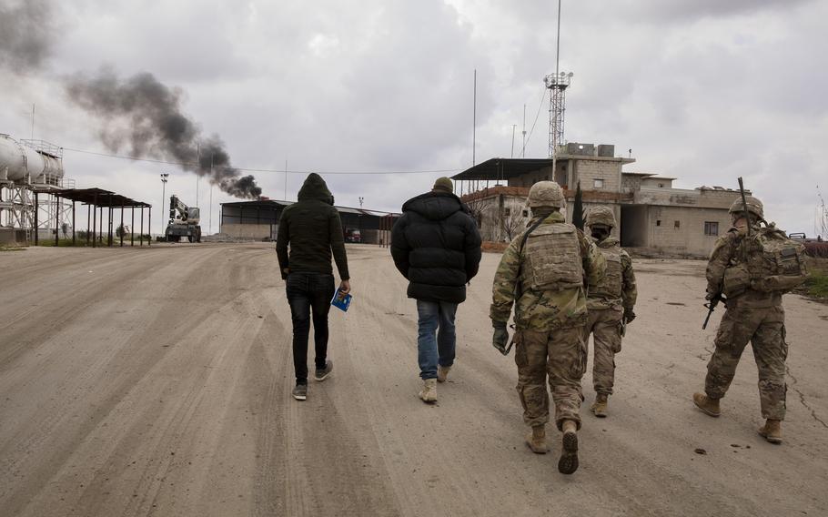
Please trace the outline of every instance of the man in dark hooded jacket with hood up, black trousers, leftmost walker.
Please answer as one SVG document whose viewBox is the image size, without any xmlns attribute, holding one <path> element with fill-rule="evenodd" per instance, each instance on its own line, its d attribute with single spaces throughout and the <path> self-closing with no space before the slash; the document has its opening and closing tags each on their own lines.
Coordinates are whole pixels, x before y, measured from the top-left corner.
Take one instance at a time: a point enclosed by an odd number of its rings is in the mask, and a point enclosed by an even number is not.
<svg viewBox="0 0 828 517">
<path fill-rule="evenodd" d="M 339 288 L 346 293 L 350 290 L 342 223 L 333 204 L 334 197 L 325 180 L 312 173 L 299 189 L 298 203 L 285 208 L 279 218 L 276 252 L 293 319 L 293 368 L 296 373 L 293 398 L 296 400 L 308 397 L 311 310 L 316 380 L 327 379 L 333 369 L 333 363 L 328 360 L 328 310 L 334 295 L 331 251 L 342 280 Z"/>
</svg>

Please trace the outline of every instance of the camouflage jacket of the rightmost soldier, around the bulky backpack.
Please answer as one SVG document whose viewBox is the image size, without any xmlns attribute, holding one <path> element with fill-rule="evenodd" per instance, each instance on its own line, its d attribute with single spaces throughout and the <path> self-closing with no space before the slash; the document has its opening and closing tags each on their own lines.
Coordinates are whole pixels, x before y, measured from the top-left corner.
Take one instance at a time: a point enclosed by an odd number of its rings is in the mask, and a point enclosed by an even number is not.
<svg viewBox="0 0 828 517">
<path fill-rule="evenodd" d="M 752 231 L 759 231 L 759 225 L 752 225 Z M 725 269 L 738 266 L 742 262 L 742 238 L 745 236 L 745 227 L 731 228 L 716 239 L 710 259 L 707 262 L 707 294 L 713 297 L 722 293 Z M 738 297 L 729 299 L 732 307 L 773 307 L 782 303 L 782 293 L 762 292 L 747 289 Z"/>
</svg>

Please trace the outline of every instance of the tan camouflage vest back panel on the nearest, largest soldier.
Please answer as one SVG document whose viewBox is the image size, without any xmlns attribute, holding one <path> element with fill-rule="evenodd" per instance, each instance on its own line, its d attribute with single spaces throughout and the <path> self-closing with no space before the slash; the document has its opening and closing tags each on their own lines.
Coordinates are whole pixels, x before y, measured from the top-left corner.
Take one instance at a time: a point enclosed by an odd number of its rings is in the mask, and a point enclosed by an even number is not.
<svg viewBox="0 0 828 517">
<path fill-rule="evenodd" d="M 581 244 L 571 224 L 544 224 L 535 228 L 523 248 L 521 282 L 539 290 L 574 289 L 583 285 Z"/>
</svg>

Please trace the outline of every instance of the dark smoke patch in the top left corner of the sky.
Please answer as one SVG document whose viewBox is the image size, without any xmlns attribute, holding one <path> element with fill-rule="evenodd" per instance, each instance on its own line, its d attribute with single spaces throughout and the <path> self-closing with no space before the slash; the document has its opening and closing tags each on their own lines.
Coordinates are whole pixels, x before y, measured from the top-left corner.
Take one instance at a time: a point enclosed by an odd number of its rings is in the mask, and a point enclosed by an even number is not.
<svg viewBox="0 0 828 517">
<path fill-rule="evenodd" d="M 0 0 L 0 66 L 25 72 L 43 65 L 56 34 L 51 11 L 46 0 Z"/>
</svg>

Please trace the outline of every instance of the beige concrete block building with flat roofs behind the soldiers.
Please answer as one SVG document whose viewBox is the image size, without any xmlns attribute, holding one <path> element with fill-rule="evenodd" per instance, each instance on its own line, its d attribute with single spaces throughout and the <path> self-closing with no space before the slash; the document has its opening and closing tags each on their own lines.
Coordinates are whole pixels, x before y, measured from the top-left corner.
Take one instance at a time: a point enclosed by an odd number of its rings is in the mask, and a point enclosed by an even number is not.
<svg viewBox="0 0 828 517">
<path fill-rule="evenodd" d="M 575 188 L 581 183 L 584 212 L 593 206 L 613 209 L 619 221 L 614 234 L 621 246 L 641 252 L 706 257 L 716 238 L 727 231 L 727 213 L 738 190 L 721 187 L 673 188 L 673 177 L 625 172 L 635 162 L 615 157 L 611 145 L 569 143 L 551 158 L 491 158 L 452 177 L 478 219 L 486 240 L 509 240 L 514 227 L 525 226 L 529 188 L 554 180 L 564 188 L 567 218 L 572 217 Z M 515 221 L 520 214 L 520 221 Z M 520 231 L 520 229 L 518 230 Z"/>
</svg>

